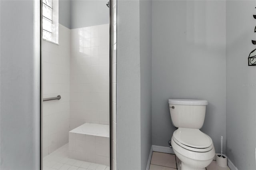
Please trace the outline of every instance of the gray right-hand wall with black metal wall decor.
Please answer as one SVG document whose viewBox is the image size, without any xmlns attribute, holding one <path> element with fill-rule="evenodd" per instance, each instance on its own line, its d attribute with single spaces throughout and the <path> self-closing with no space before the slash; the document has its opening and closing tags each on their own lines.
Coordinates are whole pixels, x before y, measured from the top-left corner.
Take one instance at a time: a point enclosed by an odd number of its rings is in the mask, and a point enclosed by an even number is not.
<svg viewBox="0 0 256 170">
<path fill-rule="evenodd" d="M 256 67 L 247 60 L 256 48 L 253 14 L 255 1 L 226 1 L 226 152 L 240 170 L 256 169 Z"/>
</svg>

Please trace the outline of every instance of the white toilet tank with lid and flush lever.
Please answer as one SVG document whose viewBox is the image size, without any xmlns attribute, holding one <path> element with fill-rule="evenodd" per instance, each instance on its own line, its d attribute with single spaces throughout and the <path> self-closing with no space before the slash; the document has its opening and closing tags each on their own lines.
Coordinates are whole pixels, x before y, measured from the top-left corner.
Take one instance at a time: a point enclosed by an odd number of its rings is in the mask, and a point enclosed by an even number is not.
<svg viewBox="0 0 256 170">
<path fill-rule="evenodd" d="M 202 128 L 206 105 L 206 100 L 169 99 L 172 124 L 178 128 Z"/>
</svg>

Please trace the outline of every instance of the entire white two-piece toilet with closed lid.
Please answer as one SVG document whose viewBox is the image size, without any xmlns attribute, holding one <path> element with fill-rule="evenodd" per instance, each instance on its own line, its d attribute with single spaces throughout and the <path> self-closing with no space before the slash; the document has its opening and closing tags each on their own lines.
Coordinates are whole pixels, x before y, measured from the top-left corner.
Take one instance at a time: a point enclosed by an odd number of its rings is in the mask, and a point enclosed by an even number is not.
<svg viewBox="0 0 256 170">
<path fill-rule="evenodd" d="M 178 170 L 205 170 L 215 155 L 212 139 L 199 129 L 204 124 L 206 100 L 169 99 L 173 132 L 171 144 L 180 159 Z"/>
</svg>

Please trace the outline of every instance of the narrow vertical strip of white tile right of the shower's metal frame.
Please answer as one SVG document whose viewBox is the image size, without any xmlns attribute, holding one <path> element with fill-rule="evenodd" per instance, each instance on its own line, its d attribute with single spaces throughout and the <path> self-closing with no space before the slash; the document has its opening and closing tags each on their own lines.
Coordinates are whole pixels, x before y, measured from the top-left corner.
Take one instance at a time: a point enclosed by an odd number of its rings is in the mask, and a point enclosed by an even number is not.
<svg viewBox="0 0 256 170">
<path fill-rule="evenodd" d="M 112 0 L 112 169 L 116 170 L 116 9 Z"/>
</svg>

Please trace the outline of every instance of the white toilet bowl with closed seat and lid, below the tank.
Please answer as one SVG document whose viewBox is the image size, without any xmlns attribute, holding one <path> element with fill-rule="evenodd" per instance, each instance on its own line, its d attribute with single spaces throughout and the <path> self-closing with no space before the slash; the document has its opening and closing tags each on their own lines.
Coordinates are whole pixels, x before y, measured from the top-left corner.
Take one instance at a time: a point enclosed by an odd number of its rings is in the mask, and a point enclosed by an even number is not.
<svg viewBox="0 0 256 170">
<path fill-rule="evenodd" d="M 171 144 L 174 153 L 181 161 L 179 170 L 205 170 L 205 167 L 212 162 L 215 155 L 212 140 L 207 134 L 197 130 L 178 128 L 174 131 Z M 190 138 L 190 136 L 194 137 Z"/>
</svg>

